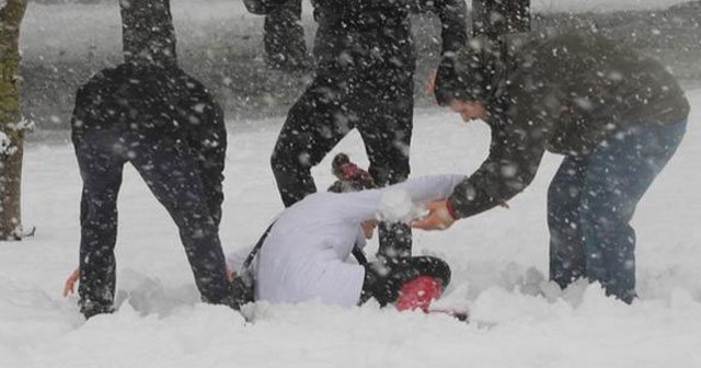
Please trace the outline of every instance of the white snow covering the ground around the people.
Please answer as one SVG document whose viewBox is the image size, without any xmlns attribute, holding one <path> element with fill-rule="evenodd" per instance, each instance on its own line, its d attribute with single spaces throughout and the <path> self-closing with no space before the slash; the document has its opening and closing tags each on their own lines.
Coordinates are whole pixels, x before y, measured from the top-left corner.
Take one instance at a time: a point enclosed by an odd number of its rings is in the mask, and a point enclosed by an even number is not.
<svg viewBox="0 0 701 368">
<path fill-rule="evenodd" d="M 560 295 L 542 281 L 545 189 L 559 162 L 549 156 L 510 209 L 415 233 L 415 253 L 452 266 L 444 303 L 468 306 L 472 324 L 375 304 L 319 303 L 253 306 L 246 323 L 225 307 L 199 303 L 174 225 L 130 168 L 119 198 L 120 308 L 84 322 L 76 297 L 60 297 L 78 261 L 72 149 L 32 145 L 24 223 L 37 231 L 24 242 L 0 243 L 0 367 L 701 367 L 701 90 L 689 97 L 686 140 L 634 219 L 641 299 L 624 306 L 596 285 Z M 268 169 L 281 118 L 238 123 L 226 169 L 227 252 L 255 242 L 281 208 Z M 469 173 L 485 156 L 484 124 L 426 110 L 415 125 L 414 175 Z M 356 134 L 337 151 L 367 164 Z M 329 185 L 329 160 L 314 174 L 320 187 Z"/>
</svg>

